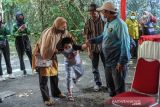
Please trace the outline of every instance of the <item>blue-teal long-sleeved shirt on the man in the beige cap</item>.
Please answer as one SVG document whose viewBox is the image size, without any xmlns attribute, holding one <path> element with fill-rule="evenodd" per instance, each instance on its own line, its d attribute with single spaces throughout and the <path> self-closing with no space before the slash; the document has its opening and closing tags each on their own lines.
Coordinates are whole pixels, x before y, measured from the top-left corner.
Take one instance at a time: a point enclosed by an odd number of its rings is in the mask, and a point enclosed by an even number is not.
<svg viewBox="0 0 160 107">
<path fill-rule="evenodd" d="M 130 55 L 130 36 L 126 23 L 118 17 L 107 22 L 103 33 L 93 39 L 91 43 L 101 43 L 106 66 L 116 66 L 117 63 L 127 64 Z"/>
</svg>

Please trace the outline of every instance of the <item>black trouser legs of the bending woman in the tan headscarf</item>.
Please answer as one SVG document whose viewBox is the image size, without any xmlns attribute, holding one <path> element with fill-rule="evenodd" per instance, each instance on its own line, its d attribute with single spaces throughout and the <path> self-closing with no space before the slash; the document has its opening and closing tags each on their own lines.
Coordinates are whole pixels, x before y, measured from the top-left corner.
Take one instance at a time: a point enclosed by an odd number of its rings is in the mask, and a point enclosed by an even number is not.
<svg viewBox="0 0 160 107">
<path fill-rule="evenodd" d="M 49 97 L 49 89 L 48 89 L 48 78 L 50 78 L 50 88 L 51 88 L 51 94 L 53 97 L 58 97 L 58 95 L 61 94 L 60 89 L 58 88 L 58 75 L 57 76 L 40 76 L 39 74 L 39 85 L 41 94 L 43 97 L 43 101 L 48 101 L 50 99 Z"/>
</svg>

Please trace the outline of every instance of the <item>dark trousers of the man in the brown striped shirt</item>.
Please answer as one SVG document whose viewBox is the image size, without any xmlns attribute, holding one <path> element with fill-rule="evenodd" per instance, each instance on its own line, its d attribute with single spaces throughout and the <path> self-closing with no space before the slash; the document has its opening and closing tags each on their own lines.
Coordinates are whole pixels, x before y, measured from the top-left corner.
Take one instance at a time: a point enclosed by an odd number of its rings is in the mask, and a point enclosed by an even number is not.
<svg viewBox="0 0 160 107">
<path fill-rule="evenodd" d="M 99 57 L 102 60 L 103 66 L 105 68 L 105 58 L 102 52 L 96 53 L 96 52 L 92 52 L 93 55 L 93 59 L 92 59 L 92 72 L 94 74 L 94 81 L 96 83 L 96 85 L 101 86 L 102 82 L 101 82 L 101 77 L 99 74 L 99 69 L 98 69 L 98 65 L 99 65 Z"/>
</svg>

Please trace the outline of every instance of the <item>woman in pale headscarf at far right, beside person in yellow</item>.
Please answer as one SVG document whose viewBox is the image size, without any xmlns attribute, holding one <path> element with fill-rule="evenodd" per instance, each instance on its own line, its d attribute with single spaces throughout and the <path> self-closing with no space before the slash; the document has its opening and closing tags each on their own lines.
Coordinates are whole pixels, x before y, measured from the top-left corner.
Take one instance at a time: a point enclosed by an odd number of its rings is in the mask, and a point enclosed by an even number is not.
<svg viewBox="0 0 160 107">
<path fill-rule="evenodd" d="M 139 23 L 141 24 L 143 35 L 155 34 L 153 24 L 156 23 L 156 18 L 150 12 L 144 11 Z"/>
</svg>

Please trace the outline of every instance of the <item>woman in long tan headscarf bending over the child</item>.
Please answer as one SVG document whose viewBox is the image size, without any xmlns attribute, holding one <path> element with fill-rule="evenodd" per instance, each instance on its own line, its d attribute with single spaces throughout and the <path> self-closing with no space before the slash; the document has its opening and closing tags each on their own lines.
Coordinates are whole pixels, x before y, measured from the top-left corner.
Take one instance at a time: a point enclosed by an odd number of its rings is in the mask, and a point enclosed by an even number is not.
<svg viewBox="0 0 160 107">
<path fill-rule="evenodd" d="M 48 77 L 50 77 L 51 94 L 53 97 L 64 98 L 58 88 L 58 62 L 56 53 L 60 49 L 60 41 L 62 38 L 71 37 L 67 29 L 67 21 L 63 17 L 57 17 L 53 25 L 45 29 L 40 39 L 38 40 L 33 52 L 32 67 L 38 68 L 40 90 L 43 100 L 46 105 L 52 105 L 53 101 L 49 97 L 48 91 Z M 38 60 L 36 55 L 40 54 L 44 62 L 46 60 L 52 61 L 52 66 L 49 67 L 36 67 L 36 61 Z"/>
</svg>

